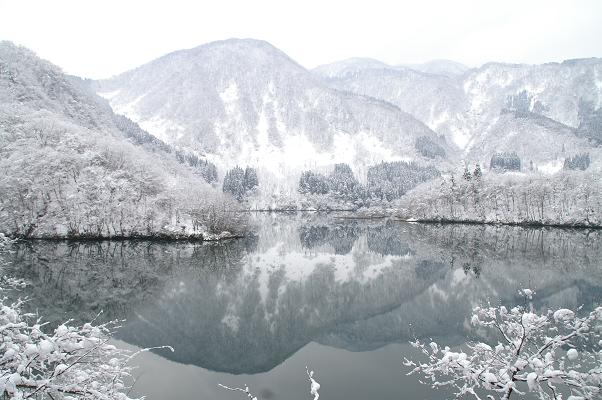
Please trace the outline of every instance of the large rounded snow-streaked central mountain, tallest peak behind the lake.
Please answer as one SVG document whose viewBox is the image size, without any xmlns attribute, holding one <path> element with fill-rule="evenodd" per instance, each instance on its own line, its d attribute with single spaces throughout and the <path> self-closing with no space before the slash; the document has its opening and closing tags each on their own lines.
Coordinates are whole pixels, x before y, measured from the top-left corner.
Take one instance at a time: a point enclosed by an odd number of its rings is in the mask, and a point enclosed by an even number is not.
<svg viewBox="0 0 602 400">
<path fill-rule="evenodd" d="M 416 139 L 447 145 L 397 106 L 328 86 L 267 42 L 230 39 L 181 50 L 96 90 L 153 135 L 218 165 L 275 174 L 347 162 L 422 159 Z M 426 161 L 426 159 L 424 159 Z"/>
</svg>

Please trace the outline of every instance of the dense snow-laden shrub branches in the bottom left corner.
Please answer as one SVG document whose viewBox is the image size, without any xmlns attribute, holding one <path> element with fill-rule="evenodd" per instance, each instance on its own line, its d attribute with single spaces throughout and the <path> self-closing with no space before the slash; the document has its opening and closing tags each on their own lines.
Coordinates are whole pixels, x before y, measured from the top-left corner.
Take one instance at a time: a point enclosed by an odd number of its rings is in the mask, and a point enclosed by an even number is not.
<svg viewBox="0 0 602 400">
<path fill-rule="evenodd" d="M 15 284 L 2 283 L 3 288 Z M 17 283 L 18 284 L 18 283 Z M 129 400 L 129 361 L 109 344 L 115 323 L 58 326 L 50 334 L 23 300 L 0 298 L 0 395 L 9 399 Z M 146 351 L 146 350 L 142 350 Z"/>
</svg>

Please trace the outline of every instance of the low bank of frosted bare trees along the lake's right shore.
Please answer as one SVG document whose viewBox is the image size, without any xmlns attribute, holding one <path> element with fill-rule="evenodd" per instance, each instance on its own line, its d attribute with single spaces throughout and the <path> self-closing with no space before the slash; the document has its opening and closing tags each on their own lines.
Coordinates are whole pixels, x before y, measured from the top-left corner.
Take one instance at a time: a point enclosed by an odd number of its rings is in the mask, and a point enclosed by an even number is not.
<svg viewBox="0 0 602 400">
<path fill-rule="evenodd" d="M 483 175 L 477 167 L 416 188 L 400 208 L 432 221 L 601 226 L 602 181 L 593 171 Z"/>
</svg>

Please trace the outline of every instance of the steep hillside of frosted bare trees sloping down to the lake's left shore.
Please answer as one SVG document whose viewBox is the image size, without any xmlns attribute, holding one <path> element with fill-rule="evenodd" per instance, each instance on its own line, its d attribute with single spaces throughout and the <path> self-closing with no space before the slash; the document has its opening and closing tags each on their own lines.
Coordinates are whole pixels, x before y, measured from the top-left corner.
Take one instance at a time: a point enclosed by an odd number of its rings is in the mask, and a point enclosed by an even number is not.
<svg viewBox="0 0 602 400">
<path fill-rule="evenodd" d="M 234 233 L 241 226 L 237 207 L 208 183 L 216 178 L 206 160 L 115 115 L 85 82 L 27 49 L 0 43 L 1 232 L 22 237 Z"/>
</svg>

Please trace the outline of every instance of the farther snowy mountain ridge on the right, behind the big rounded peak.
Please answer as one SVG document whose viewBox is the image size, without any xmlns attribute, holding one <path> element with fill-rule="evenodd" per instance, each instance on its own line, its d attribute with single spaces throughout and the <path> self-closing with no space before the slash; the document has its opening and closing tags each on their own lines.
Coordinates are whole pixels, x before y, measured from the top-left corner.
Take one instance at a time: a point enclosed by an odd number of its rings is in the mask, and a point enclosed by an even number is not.
<svg viewBox="0 0 602 400">
<path fill-rule="evenodd" d="M 551 155 L 574 154 L 600 142 L 600 133 L 585 130 L 583 122 L 588 113 L 599 119 L 601 59 L 490 63 L 461 74 L 423 70 L 429 73 L 351 59 L 314 73 L 339 90 L 397 105 L 474 161 L 486 162 L 494 151 L 516 151 L 546 164 L 555 160 Z"/>
</svg>

